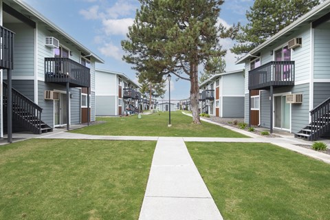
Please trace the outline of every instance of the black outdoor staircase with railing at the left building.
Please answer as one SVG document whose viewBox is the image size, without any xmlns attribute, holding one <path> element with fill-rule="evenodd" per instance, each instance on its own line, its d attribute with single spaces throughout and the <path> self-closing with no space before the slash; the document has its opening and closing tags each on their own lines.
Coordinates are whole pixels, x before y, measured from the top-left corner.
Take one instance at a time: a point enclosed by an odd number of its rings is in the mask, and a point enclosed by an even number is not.
<svg viewBox="0 0 330 220">
<path fill-rule="evenodd" d="M 3 113 L 7 115 L 8 87 L 3 82 Z M 35 134 L 53 131 L 52 127 L 41 120 L 43 109 L 38 104 L 12 88 L 12 120 Z"/>
</svg>

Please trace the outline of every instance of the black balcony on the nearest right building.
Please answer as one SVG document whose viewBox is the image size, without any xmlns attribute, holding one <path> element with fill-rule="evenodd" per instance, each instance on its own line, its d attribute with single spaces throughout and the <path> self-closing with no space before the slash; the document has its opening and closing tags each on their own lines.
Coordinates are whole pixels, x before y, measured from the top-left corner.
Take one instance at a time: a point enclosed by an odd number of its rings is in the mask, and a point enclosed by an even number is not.
<svg viewBox="0 0 330 220">
<path fill-rule="evenodd" d="M 249 89 L 294 85 L 294 61 L 272 61 L 249 71 Z"/>
</svg>

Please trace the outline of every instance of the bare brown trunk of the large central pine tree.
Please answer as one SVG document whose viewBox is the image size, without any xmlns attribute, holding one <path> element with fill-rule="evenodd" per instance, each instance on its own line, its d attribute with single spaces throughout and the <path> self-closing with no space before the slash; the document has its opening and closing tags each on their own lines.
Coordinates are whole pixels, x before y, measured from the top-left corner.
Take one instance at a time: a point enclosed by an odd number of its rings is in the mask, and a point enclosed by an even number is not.
<svg viewBox="0 0 330 220">
<path fill-rule="evenodd" d="M 198 65 L 190 63 L 190 103 L 192 111 L 192 122 L 201 124 L 199 118 L 199 86 L 198 86 Z"/>
</svg>

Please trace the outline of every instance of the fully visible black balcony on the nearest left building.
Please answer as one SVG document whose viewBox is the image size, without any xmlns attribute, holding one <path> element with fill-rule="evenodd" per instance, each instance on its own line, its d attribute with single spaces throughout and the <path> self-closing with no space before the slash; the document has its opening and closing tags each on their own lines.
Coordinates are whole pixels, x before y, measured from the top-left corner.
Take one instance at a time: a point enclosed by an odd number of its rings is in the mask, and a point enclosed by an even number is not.
<svg viewBox="0 0 330 220">
<path fill-rule="evenodd" d="M 69 58 L 45 58 L 45 82 L 90 87 L 90 69 Z"/>
</svg>

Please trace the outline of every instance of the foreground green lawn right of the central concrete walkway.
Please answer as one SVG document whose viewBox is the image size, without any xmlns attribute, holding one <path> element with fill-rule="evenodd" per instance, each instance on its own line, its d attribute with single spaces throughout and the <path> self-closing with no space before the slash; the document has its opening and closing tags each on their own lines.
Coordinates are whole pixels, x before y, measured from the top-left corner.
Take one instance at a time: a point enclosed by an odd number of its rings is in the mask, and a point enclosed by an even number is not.
<svg viewBox="0 0 330 220">
<path fill-rule="evenodd" d="M 272 144 L 186 145 L 224 219 L 329 219 L 329 164 Z"/>
</svg>

